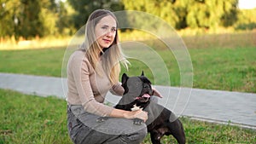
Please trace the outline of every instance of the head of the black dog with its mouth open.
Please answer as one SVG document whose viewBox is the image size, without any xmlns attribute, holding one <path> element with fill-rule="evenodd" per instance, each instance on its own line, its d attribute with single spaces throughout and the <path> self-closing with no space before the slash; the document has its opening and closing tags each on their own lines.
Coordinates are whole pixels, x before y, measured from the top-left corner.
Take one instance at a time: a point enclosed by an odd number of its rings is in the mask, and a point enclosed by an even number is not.
<svg viewBox="0 0 256 144">
<path fill-rule="evenodd" d="M 148 102 L 153 95 L 151 82 L 142 72 L 141 76 L 128 77 L 125 73 L 122 76 L 122 87 L 125 89 L 124 95 L 129 95 L 133 100 Z"/>
</svg>

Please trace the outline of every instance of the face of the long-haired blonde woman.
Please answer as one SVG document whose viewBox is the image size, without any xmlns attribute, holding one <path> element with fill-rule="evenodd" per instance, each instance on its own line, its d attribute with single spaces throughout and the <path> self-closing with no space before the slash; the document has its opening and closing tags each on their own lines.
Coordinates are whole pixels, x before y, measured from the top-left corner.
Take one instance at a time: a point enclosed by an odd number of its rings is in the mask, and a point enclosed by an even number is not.
<svg viewBox="0 0 256 144">
<path fill-rule="evenodd" d="M 96 24 L 96 41 L 102 49 L 108 48 L 113 43 L 116 31 L 116 21 L 110 15 L 103 17 Z"/>
</svg>

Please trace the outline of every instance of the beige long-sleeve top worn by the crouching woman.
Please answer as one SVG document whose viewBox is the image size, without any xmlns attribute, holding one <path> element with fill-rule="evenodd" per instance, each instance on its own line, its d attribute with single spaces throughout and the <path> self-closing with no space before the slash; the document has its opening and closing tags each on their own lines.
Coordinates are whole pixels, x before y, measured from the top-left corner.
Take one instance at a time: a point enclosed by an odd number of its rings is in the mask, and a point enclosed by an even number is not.
<svg viewBox="0 0 256 144">
<path fill-rule="evenodd" d="M 102 68 L 101 61 L 99 64 L 99 68 Z M 75 51 L 68 60 L 67 86 L 69 105 L 82 105 L 86 112 L 100 116 L 109 116 L 113 111 L 113 107 L 103 104 L 108 90 L 114 95 L 124 93 L 121 84 L 112 86 L 103 71 L 97 74 L 81 50 Z"/>
</svg>

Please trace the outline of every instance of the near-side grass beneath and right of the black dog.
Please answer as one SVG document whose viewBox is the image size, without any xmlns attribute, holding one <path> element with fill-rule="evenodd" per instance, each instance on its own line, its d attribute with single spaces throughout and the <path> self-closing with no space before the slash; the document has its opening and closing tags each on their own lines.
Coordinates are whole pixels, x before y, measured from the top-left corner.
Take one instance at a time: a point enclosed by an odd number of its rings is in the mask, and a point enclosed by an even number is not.
<svg viewBox="0 0 256 144">
<path fill-rule="evenodd" d="M 187 143 L 255 143 L 256 131 L 241 129 L 236 126 L 211 124 L 191 120 L 189 118 L 181 118 L 185 130 Z M 144 140 L 149 144 L 150 136 Z M 172 136 L 164 136 L 162 142 L 165 144 L 177 143 Z"/>
</svg>

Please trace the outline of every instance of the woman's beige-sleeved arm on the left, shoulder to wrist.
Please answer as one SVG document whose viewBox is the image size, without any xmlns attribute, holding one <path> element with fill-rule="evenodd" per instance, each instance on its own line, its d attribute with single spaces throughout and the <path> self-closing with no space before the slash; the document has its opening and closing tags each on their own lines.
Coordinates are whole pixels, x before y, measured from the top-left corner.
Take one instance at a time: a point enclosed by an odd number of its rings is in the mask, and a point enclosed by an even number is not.
<svg viewBox="0 0 256 144">
<path fill-rule="evenodd" d="M 90 84 L 90 63 L 84 59 L 84 54 L 77 53 L 73 55 L 68 70 L 70 78 L 73 78 L 73 87 L 76 89 L 74 95 L 79 96 L 82 106 L 86 112 L 94 113 L 99 116 L 109 116 L 113 111 L 113 107 L 109 107 L 96 101 Z"/>
</svg>

